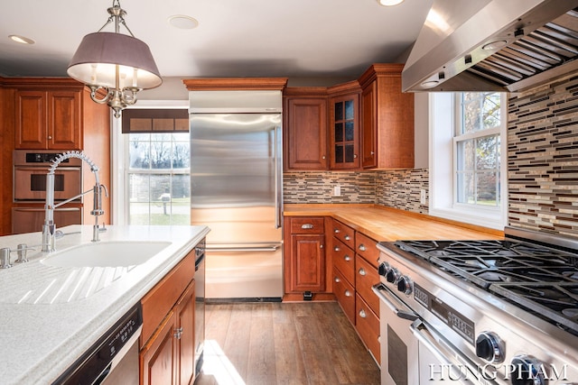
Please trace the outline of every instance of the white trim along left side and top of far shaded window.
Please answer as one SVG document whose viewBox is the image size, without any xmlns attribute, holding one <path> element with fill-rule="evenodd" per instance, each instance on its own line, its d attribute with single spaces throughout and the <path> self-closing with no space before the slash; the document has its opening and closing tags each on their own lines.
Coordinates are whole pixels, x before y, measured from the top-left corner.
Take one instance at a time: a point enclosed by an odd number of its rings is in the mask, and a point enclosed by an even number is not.
<svg viewBox="0 0 578 385">
<path fill-rule="evenodd" d="M 139 100 L 129 108 L 188 108 L 188 100 Z M 125 195 L 128 191 L 126 174 L 126 157 L 128 148 L 128 134 L 122 133 L 122 119 L 112 119 L 112 194 L 111 211 L 112 223 L 127 225 L 128 207 L 125 205 Z"/>
</svg>

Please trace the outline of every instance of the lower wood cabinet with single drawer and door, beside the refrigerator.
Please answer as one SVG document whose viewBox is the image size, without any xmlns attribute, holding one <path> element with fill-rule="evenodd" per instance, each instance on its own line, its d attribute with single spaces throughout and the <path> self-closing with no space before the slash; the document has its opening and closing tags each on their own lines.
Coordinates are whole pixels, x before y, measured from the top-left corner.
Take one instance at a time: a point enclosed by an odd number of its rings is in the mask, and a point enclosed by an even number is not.
<svg viewBox="0 0 578 385">
<path fill-rule="evenodd" d="M 285 294 L 325 292 L 324 218 L 285 218 L 284 231 Z"/>
</svg>

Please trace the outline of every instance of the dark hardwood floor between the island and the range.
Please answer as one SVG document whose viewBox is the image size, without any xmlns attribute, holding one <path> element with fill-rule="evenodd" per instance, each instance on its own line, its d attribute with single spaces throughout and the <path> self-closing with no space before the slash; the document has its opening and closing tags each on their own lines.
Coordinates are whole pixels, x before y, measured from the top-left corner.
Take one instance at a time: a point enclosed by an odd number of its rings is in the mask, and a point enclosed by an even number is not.
<svg viewBox="0 0 578 385">
<path fill-rule="evenodd" d="M 336 302 L 208 304 L 196 385 L 379 384 Z"/>
</svg>

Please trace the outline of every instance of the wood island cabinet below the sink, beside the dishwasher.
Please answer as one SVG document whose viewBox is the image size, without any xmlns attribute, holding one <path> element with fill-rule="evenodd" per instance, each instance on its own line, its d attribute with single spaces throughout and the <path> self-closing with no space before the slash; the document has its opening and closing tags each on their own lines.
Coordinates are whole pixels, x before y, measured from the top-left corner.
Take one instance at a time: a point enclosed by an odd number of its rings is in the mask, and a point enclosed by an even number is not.
<svg viewBox="0 0 578 385">
<path fill-rule="evenodd" d="M 141 300 L 141 384 L 194 381 L 195 252 L 190 252 Z"/>
</svg>

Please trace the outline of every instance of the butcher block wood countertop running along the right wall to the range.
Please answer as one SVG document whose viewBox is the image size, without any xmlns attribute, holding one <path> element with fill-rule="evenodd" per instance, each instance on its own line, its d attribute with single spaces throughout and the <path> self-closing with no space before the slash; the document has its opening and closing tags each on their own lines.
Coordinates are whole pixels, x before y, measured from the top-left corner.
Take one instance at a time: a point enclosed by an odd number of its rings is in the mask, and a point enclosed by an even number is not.
<svg viewBox="0 0 578 385">
<path fill-rule="evenodd" d="M 503 231 L 378 205 L 286 204 L 284 216 L 332 216 L 378 242 L 504 237 Z"/>
</svg>

